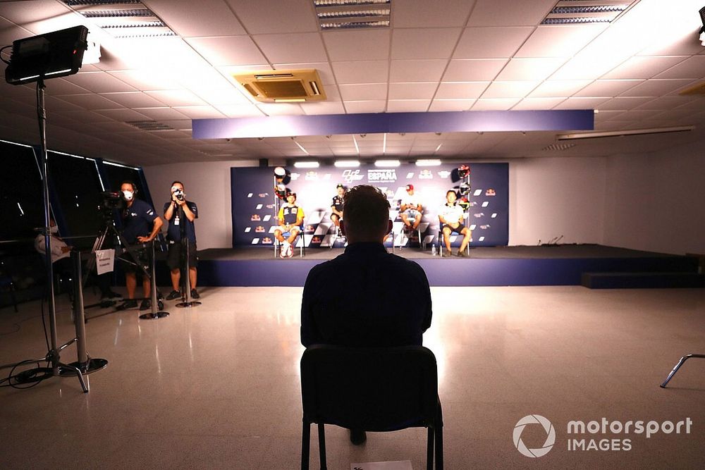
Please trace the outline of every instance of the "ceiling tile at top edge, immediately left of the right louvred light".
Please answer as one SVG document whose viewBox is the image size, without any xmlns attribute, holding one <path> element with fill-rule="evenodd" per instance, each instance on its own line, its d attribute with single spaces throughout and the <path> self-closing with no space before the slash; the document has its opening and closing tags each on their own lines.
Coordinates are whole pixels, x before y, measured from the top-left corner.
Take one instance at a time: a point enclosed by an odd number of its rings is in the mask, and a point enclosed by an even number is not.
<svg viewBox="0 0 705 470">
<path fill-rule="evenodd" d="M 556 0 L 477 0 L 468 26 L 537 26 Z"/>
</svg>

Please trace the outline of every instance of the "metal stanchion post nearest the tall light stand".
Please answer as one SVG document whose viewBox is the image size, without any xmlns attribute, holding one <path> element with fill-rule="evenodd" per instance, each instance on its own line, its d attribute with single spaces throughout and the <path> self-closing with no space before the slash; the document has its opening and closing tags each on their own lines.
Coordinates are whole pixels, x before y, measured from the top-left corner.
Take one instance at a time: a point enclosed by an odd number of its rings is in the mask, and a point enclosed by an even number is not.
<svg viewBox="0 0 705 470">
<path fill-rule="evenodd" d="M 59 375 L 78 375 L 83 391 L 87 393 L 90 390 L 90 383 L 87 380 L 84 382 L 83 376 L 105 369 L 108 365 L 108 361 L 106 359 L 92 359 L 88 355 L 86 349 L 85 312 L 83 309 L 83 283 L 81 282 L 81 253 L 72 251 L 71 261 L 73 263 L 73 322 L 76 329 L 76 337 L 61 346 L 59 350 L 63 350 L 63 348 L 71 345 L 71 343 L 75 341 L 78 361 L 72 362 L 71 364 L 61 364 Z"/>
</svg>

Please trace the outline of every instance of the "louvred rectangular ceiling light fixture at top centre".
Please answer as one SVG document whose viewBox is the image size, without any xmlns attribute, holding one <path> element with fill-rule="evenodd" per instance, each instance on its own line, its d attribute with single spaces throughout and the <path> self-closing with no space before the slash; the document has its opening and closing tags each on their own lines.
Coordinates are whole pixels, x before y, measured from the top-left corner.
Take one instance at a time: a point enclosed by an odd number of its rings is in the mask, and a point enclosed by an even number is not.
<svg viewBox="0 0 705 470">
<path fill-rule="evenodd" d="M 321 30 L 389 27 L 391 0 L 313 0 Z"/>
</svg>

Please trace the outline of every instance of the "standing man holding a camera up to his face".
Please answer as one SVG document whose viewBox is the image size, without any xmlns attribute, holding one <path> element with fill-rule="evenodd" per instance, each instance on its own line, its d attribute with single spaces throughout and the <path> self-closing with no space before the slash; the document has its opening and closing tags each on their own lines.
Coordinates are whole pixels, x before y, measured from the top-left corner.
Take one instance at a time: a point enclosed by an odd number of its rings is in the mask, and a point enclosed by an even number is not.
<svg viewBox="0 0 705 470">
<path fill-rule="evenodd" d="M 166 240 L 169 244 L 169 252 L 166 256 L 166 265 L 171 270 L 171 294 L 166 296 L 167 300 L 181 297 L 179 292 L 179 281 L 181 280 L 181 259 L 184 254 L 182 235 L 188 243 L 188 280 L 191 285 L 191 297 L 198 299 L 196 290 L 196 266 L 198 257 L 196 256 L 196 230 L 193 221 L 198 218 L 198 208 L 195 202 L 187 201 L 183 192 L 183 183 L 174 181 L 171 183 L 171 201 L 164 204 L 164 218 L 169 222 Z M 185 295 L 185 292 L 184 292 Z"/>
</svg>

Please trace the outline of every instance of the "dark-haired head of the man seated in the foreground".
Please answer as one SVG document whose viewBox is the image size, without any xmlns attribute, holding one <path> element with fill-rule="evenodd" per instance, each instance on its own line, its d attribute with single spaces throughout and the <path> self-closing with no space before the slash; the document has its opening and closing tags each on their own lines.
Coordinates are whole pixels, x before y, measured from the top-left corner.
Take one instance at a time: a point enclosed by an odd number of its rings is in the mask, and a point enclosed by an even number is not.
<svg viewBox="0 0 705 470">
<path fill-rule="evenodd" d="M 351 188 L 343 198 L 345 218 L 343 232 L 348 242 L 381 242 L 391 231 L 389 202 L 386 195 L 374 186 Z"/>
</svg>

